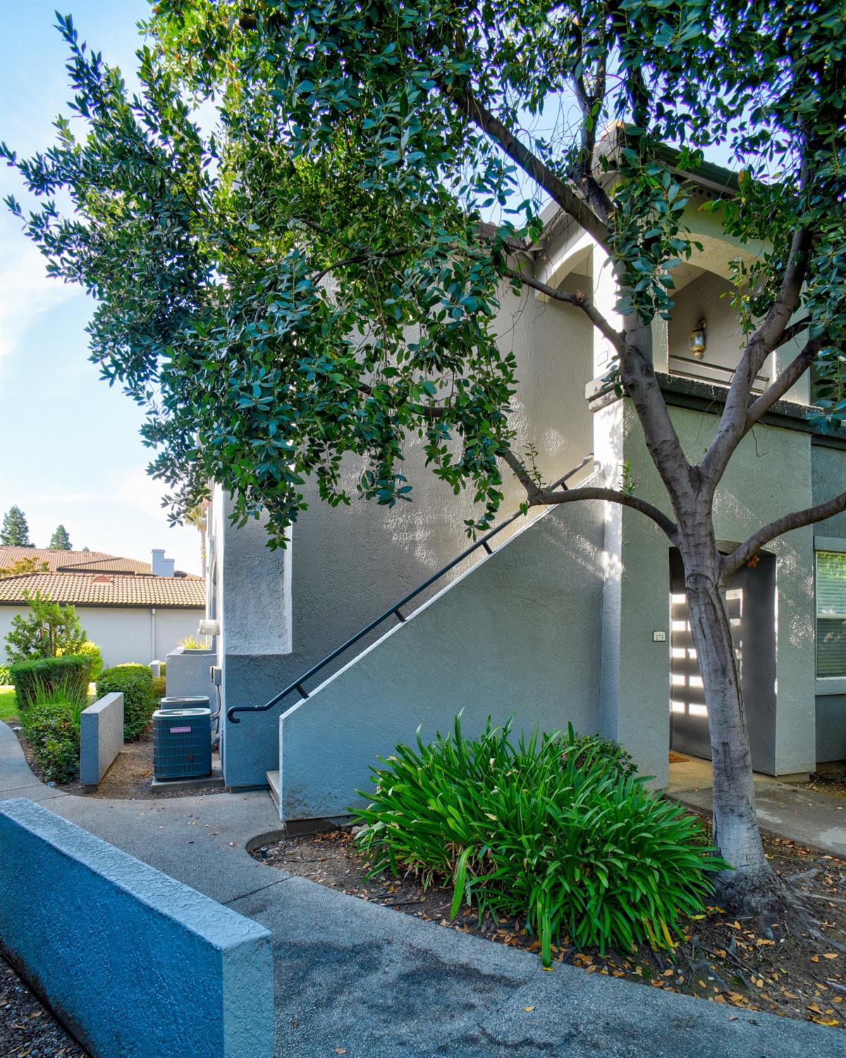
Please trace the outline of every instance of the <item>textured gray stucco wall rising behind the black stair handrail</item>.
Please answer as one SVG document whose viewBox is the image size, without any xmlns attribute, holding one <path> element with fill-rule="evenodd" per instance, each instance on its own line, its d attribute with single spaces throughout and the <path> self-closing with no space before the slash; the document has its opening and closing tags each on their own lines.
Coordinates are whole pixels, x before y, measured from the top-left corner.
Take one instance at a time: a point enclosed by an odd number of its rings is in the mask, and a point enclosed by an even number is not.
<svg viewBox="0 0 846 1058">
<path fill-rule="evenodd" d="M 575 278 L 571 284 L 578 286 Z M 592 446 L 592 420 L 584 399 L 585 385 L 593 373 L 589 327 L 580 314 L 540 302 L 531 292 L 519 297 L 503 293 L 497 327 L 501 347 L 514 349 L 517 357 L 520 386 L 513 422 L 518 445 L 527 441 L 536 444 L 542 453 L 542 473 L 554 479 L 581 462 Z M 348 461 L 346 476 L 353 497 L 360 472 L 354 460 Z M 472 493 L 455 496 L 437 479 L 424 466 L 417 440 L 407 446 L 404 473 L 413 487 L 412 503 L 393 509 L 358 498 L 353 498 L 351 507 L 333 509 L 319 500 L 316 490 L 310 490 L 310 507 L 294 526 L 288 560 L 280 552 L 268 551 L 260 532 L 246 536 L 243 530 L 217 527 L 213 515 L 216 550 L 224 536 L 222 554 L 218 553 L 224 578 L 234 568 L 236 550 L 249 552 L 249 561 L 239 560 L 239 564 L 247 570 L 251 586 L 262 577 L 269 584 L 277 582 L 274 563 L 290 560 L 288 646 L 269 650 L 262 632 L 262 626 L 281 620 L 284 590 L 277 588 L 264 594 L 261 606 L 252 614 L 252 624 L 238 622 L 241 631 L 237 649 L 233 649 L 228 633 L 233 592 L 242 592 L 245 581 L 233 577 L 224 583 L 219 616 L 223 622 L 220 651 L 226 708 L 269 700 L 467 546 L 463 523 L 473 514 Z M 502 517 L 522 498 L 520 487 L 509 480 Z M 462 571 L 459 567 L 452 576 Z M 429 597 L 436 590 L 433 588 Z M 247 638 L 251 627 L 255 637 L 252 649 Z M 348 660 L 339 660 L 335 669 Z M 295 698 L 266 713 L 242 714 L 238 725 L 225 723 L 227 784 L 262 784 L 265 772 L 278 767 L 277 720 L 292 700 Z"/>
</svg>

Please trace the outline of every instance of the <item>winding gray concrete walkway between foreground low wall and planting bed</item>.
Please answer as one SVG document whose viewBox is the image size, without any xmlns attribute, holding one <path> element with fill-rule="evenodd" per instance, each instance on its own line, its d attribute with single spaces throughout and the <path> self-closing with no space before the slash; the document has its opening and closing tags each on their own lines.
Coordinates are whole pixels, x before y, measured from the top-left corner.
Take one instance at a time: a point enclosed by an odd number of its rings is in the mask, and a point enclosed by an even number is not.
<svg viewBox="0 0 846 1058">
<path fill-rule="evenodd" d="M 262 791 L 157 801 L 62 794 L 36 780 L 14 732 L 0 724 L 0 799 L 10 797 L 44 804 L 266 926 L 276 1056 L 841 1058 L 844 1052 L 838 1029 L 570 966 L 545 972 L 527 952 L 288 877 L 244 847 L 278 828 Z"/>
</svg>

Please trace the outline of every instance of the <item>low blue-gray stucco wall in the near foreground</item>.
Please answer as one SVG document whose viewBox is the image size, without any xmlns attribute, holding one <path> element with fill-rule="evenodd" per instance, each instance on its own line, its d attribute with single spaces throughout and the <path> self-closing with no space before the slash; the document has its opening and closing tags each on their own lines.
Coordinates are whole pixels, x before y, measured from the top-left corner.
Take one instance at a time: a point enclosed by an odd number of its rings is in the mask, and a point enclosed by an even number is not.
<svg viewBox="0 0 846 1058">
<path fill-rule="evenodd" d="M 3 954 L 95 1058 L 271 1058 L 268 930 L 25 798 L 0 847 Z"/>
</svg>

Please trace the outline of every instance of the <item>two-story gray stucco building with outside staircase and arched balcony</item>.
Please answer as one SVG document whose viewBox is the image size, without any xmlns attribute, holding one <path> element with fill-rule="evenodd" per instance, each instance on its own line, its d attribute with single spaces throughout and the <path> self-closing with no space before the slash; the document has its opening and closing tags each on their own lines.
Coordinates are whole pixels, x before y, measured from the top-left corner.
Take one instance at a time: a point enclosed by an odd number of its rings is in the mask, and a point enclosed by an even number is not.
<svg viewBox="0 0 846 1058">
<path fill-rule="evenodd" d="M 728 296 L 730 261 L 750 256 L 699 206 L 730 175 L 685 175 L 686 223 L 702 250 L 676 269 L 676 307 L 652 327 L 652 355 L 682 445 L 694 461 L 718 422 L 741 333 Z M 544 282 L 591 292 L 614 318 L 608 261 L 590 236 L 550 211 L 544 239 L 522 254 Z M 618 321 L 619 322 L 619 321 Z M 704 350 L 691 351 L 692 331 Z M 513 349 L 518 449 L 532 443 L 544 478 L 580 468 L 571 484 L 617 487 L 630 468 L 637 494 L 667 509 L 628 398 L 603 383 L 610 349 L 578 312 L 526 290 L 503 291 L 500 341 Z M 799 341 L 798 339 L 796 341 Z M 797 346 L 778 350 L 759 387 Z M 715 500 L 718 537 L 740 543 L 790 509 L 846 481 L 846 434 L 815 433 L 806 376 L 743 440 Z M 619 740 L 641 770 L 667 781 L 668 750 L 707 755 L 707 716 L 685 621 L 678 557 L 639 512 L 584 501 L 530 512 L 391 619 L 294 687 L 304 674 L 467 546 L 471 497 L 454 496 L 409 444 L 413 503 L 332 509 L 316 489 L 284 551 L 260 523 L 235 529 L 216 489 L 209 510 L 210 660 L 223 713 L 284 698 L 222 722 L 232 786 L 278 787 L 287 820 L 342 815 L 366 789 L 368 765 L 447 730 L 464 710 L 477 730 L 516 713 L 518 728 L 568 722 Z M 350 463 L 351 480 L 356 468 Z M 354 492 L 354 488 L 351 490 Z M 523 498 L 508 482 L 502 517 Z M 784 776 L 846 758 L 846 514 L 774 541 L 729 589 L 754 766 Z M 839 579 L 840 578 L 840 579 Z M 421 605 L 422 603 L 422 605 Z M 415 608 L 417 607 L 417 608 Z M 308 696 L 304 695 L 308 692 Z M 207 692 L 203 692 L 207 693 Z"/>
</svg>

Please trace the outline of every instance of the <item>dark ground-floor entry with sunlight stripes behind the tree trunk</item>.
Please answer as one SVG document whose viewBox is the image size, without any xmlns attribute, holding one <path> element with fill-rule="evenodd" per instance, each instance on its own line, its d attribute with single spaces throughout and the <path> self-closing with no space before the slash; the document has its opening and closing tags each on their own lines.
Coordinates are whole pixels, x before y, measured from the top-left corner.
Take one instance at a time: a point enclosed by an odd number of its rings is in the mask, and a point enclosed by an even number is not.
<svg viewBox="0 0 846 1058">
<path fill-rule="evenodd" d="M 752 764 L 770 771 L 775 749 L 775 558 L 761 554 L 729 582 L 725 606 L 740 674 Z M 669 744 L 711 760 L 707 707 L 691 634 L 684 567 L 669 555 Z"/>
</svg>

